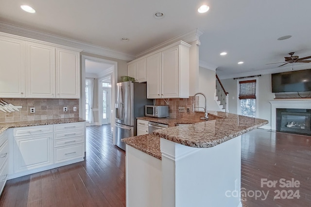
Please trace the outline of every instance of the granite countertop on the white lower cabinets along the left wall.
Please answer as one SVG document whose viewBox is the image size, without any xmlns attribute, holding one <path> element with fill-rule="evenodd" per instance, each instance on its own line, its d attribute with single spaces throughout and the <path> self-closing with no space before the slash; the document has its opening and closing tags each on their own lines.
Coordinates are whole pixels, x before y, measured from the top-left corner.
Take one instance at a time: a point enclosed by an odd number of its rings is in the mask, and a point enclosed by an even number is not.
<svg viewBox="0 0 311 207">
<path fill-rule="evenodd" d="M 82 118 L 63 118 L 63 119 L 47 119 L 47 120 L 37 120 L 37 121 L 1 122 L 0 133 L 5 131 L 7 128 L 12 128 L 12 127 L 31 127 L 31 126 L 39 126 L 39 125 L 64 124 L 64 123 L 85 122 L 85 121 L 86 120 Z"/>
</svg>

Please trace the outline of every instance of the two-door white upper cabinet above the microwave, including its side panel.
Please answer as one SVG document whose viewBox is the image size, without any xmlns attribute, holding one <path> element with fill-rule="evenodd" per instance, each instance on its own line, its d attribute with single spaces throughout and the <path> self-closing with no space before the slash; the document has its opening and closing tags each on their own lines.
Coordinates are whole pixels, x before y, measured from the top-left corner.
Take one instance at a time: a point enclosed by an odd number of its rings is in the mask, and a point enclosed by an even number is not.
<svg viewBox="0 0 311 207">
<path fill-rule="evenodd" d="M 189 48 L 180 41 L 147 57 L 147 98 L 189 97 Z"/>
</svg>

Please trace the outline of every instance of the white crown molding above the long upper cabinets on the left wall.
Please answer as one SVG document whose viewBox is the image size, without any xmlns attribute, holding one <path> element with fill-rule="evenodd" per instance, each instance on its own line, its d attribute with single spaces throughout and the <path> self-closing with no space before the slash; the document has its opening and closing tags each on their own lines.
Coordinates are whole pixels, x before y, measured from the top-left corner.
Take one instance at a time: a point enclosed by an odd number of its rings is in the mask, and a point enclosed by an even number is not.
<svg viewBox="0 0 311 207">
<path fill-rule="evenodd" d="M 125 54 L 116 50 L 92 45 L 92 44 L 87 44 L 81 41 L 57 36 L 54 34 L 50 33 L 45 33 L 45 32 L 39 32 L 36 30 L 20 27 L 17 25 L 13 24 L 8 24 L 6 22 L 1 22 L 0 21 L 0 32 L 5 32 L 5 33 L 10 33 L 22 37 L 27 37 L 27 38 L 32 38 L 35 40 L 41 40 L 57 45 L 62 45 L 62 46 L 67 46 L 70 48 L 79 48 L 83 50 L 84 52 L 87 53 L 92 53 L 96 55 L 102 55 L 110 58 L 116 58 L 120 60 L 125 60 L 125 61 L 132 61 L 136 57 L 134 55 L 129 55 Z"/>
</svg>

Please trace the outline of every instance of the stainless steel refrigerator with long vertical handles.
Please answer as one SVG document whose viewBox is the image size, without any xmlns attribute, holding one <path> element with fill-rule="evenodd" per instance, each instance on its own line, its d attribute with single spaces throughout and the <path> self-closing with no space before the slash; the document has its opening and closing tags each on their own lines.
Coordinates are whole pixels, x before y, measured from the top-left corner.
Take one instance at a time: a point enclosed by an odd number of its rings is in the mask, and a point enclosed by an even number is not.
<svg viewBox="0 0 311 207">
<path fill-rule="evenodd" d="M 145 115 L 145 105 L 152 105 L 153 99 L 147 99 L 147 84 L 132 81 L 117 83 L 115 137 L 116 145 L 125 150 L 122 138 L 137 135 L 136 118 Z"/>
</svg>

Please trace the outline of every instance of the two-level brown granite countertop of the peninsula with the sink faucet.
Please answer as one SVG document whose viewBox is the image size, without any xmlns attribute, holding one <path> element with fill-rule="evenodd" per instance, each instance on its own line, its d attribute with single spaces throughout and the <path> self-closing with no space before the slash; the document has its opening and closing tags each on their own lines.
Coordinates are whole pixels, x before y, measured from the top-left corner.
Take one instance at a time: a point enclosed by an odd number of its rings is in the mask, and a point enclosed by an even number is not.
<svg viewBox="0 0 311 207">
<path fill-rule="evenodd" d="M 233 139 L 255 128 L 268 124 L 264 119 L 213 111 L 209 113 L 216 119 L 211 121 L 194 121 L 193 124 L 174 127 L 181 124 L 182 119 L 138 117 L 146 121 L 167 124 L 168 128 L 157 129 L 153 134 L 140 135 L 122 139 L 122 142 L 145 152 L 157 159 L 161 159 L 160 138 L 180 143 L 190 147 L 207 148 Z M 189 120 L 188 120 L 189 121 Z M 193 120 L 192 120 L 193 121 Z"/>
</svg>

